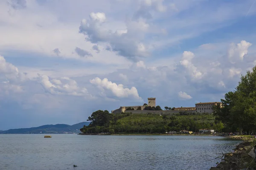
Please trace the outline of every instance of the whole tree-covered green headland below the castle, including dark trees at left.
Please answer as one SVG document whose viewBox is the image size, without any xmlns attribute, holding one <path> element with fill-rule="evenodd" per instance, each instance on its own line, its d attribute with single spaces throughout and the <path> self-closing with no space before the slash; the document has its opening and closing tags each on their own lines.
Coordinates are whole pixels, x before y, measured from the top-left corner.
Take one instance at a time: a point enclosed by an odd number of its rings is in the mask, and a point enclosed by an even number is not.
<svg viewBox="0 0 256 170">
<path fill-rule="evenodd" d="M 102 119 L 103 117 L 105 119 Z M 112 114 L 106 111 L 96 111 L 89 118 L 92 122 L 89 126 L 80 129 L 82 133 L 165 133 L 180 130 L 198 132 L 202 128 L 214 128 L 217 131 L 223 128 L 221 123 L 215 124 L 214 117 L 208 113 L 180 112 L 176 115 L 160 116 L 151 113 Z"/>
</svg>

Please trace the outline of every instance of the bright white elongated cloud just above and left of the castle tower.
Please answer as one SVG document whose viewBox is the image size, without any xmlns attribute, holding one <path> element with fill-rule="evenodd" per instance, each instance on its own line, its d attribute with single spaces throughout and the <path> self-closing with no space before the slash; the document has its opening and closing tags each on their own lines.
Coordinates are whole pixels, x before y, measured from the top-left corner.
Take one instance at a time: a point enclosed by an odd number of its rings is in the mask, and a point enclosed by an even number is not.
<svg viewBox="0 0 256 170">
<path fill-rule="evenodd" d="M 118 98 L 134 98 L 134 99 L 141 99 L 138 91 L 135 87 L 124 88 L 124 85 L 119 84 L 117 85 L 114 82 L 108 81 L 107 78 L 100 79 L 96 77 L 90 80 L 90 83 L 99 86 L 99 88 L 103 88 L 112 92 L 112 94 Z"/>
</svg>

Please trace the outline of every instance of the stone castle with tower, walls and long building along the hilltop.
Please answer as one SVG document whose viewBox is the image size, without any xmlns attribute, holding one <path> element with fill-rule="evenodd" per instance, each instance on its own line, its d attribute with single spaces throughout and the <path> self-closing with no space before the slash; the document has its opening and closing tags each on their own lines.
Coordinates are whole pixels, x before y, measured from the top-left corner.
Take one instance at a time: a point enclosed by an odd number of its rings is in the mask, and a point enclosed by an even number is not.
<svg viewBox="0 0 256 170">
<path fill-rule="evenodd" d="M 167 110 L 168 113 L 170 112 L 174 112 L 176 113 L 177 111 L 188 111 L 188 112 L 198 112 L 198 113 L 212 113 L 213 106 L 216 105 L 220 105 L 222 107 L 222 103 L 221 102 L 200 102 L 200 103 L 195 103 L 195 107 L 180 107 L 180 108 L 174 108 L 174 110 L 170 111 Z M 134 112 L 135 113 L 139 113 L 138 111 L 147 111 L 144 110 L 146 106 L 151 106 L 151 107 L 156 107 L 156 98 L 155 97 L 150 97 L 148 98 L 148 105 L 138 105 L 138 106 L 121 106 L 120 108 L 111 111 L 111 113 L 122 113 L 125 111 L 129 111 L 129 112 Z M 132 110 L 127 110 L 128 108 L 132 109 Z M 166 111 L 166 112 L 167 112 Z M 154 111 L 154 112 L 161 112 L 163 113 L 163 111 Z"/>
</svg>

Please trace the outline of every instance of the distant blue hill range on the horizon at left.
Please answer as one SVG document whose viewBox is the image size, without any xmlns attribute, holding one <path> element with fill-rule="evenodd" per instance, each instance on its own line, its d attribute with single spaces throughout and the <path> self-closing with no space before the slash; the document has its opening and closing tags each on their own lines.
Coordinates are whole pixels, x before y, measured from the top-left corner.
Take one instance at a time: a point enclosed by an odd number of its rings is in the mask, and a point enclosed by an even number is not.
<svg viewBox="0 0 256 170">
<path fill-rule="evenodd" d="M 80 128 L 88 126 L 90 122 L 81 122 L 75 125 L 56 124 L 39 127 L 0 130 L 0 134 L 38 134 L 38 133 L 80 133 Z"/>
</svg>

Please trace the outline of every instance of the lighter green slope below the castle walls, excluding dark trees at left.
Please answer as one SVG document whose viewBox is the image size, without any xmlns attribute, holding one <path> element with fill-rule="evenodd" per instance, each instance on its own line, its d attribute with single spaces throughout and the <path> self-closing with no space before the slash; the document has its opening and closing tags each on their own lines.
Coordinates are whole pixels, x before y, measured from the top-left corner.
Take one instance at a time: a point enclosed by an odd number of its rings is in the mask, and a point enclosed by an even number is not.
<svg viewBox="0 0 256 170">
<path fill-rule="evenodd" d="M 164 133 L 166 131 L 215 128 L 214 117 L 208 115 L 160 116 L 131 114 L 116 122 L 114 129 L 121 133 Z M 128 132 L 129 131 L 129 132 Z"/>
</svg>

